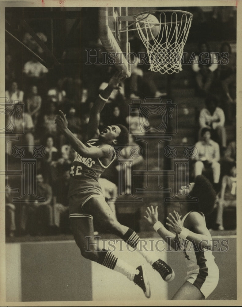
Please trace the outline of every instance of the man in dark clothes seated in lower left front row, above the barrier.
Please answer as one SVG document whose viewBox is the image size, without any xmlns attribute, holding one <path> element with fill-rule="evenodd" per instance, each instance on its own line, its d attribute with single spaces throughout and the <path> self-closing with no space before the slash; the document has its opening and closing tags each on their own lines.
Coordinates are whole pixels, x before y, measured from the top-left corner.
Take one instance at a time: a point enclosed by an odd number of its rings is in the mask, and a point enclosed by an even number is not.
<svg viewBox="0 0 242 307">
<path fill-rule="evenodd" d="M 47 235 L 53 229 L 52 189 L 42 174 L 36 175 L 36 195 L 45 200 L 29 202 L 29 231 L 31 235 Z"/>
</svg>

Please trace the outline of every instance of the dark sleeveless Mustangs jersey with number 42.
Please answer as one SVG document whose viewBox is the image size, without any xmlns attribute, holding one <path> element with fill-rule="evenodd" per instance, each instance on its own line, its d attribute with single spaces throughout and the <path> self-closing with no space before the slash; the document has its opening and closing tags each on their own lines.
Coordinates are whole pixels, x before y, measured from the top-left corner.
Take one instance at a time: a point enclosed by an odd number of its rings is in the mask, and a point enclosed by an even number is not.
<svg viewBox="0 0 242 307">
<path fill-rule="evenodd" d="M 87 147 L 95 147 L 97 139 L 86 142 Z M 99 146 L 96 146 L 99 147 Z M 68 197 L 79 192 L 86 191 L 88 188 L 96 188 L 100 191 L 101 187 L 98 183 L 101 173 L 114 161 L 115 153 L 110 163 L 105 166 L 99 158 L 82 157 L 77 153 L 70 168 L 70 185 Z"/>
</svg>

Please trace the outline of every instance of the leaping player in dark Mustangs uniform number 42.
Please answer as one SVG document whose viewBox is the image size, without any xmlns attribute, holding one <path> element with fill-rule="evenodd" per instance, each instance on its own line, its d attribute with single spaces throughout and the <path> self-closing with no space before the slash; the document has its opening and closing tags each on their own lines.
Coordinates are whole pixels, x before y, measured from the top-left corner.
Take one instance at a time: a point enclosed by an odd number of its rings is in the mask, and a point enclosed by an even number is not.
<svg viewBox="0 0 242 307">
<path fill-rule="evenodd" d="M 98 130 L 100 113 L 105 103 L 112 91 L 119 88 L 120 82 L 125 77 L 123 77 L 122 71 L 112 76 L 108 87 L 100 93 L 94 103 L 88 123 L 89 141 L 86 144 L 76 138 L 67 128 L 68 122 L 62 111 L 59 111 L 55 122 L 58 129 L 66 135 L 71 146 L 77 152 L 70 169 L 68 199 L 70 224 L 81 255 L 127 276 L 128 279 L 140 286 L 146 297 L 149 298 L 150 287 L 144 266 L 134 268 L 117 258 L 112 252 L 98 249 L 93 236 L 94 218 L 94 220 L 99 220 L 108 231 L 118 235 L 128 245 L 136 248 L 166 282 L 174 279 L 172 268 L 155 254 L 147 253 L 142 247 L 137 233 L 116 220 L 98 183 L 100 174 L 115 159 L 113 146 L 128 143 L 128 130 L 122 125 L 107 126 L 101 133 Z M 87 244 L 88 237 L 90 238 L 89 246 Z"/>
</svg>

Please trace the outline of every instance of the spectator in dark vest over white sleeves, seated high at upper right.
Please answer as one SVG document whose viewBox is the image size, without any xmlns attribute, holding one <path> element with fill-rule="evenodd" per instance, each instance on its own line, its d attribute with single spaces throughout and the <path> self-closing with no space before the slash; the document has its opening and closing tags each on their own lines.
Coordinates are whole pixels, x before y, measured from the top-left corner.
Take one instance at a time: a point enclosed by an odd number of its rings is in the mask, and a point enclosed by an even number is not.
<svg viewBox="0 0 242 307">
<path fill-rule="evenodd" d="M 215 54 L 210 52 L 208 43 L 199 43 L 198 53 L 192 62 L 192 70 L 195 72 L 196 85 L 200 95 L 208 95 L 217 67 L 217 58 Z"/>
</svg>

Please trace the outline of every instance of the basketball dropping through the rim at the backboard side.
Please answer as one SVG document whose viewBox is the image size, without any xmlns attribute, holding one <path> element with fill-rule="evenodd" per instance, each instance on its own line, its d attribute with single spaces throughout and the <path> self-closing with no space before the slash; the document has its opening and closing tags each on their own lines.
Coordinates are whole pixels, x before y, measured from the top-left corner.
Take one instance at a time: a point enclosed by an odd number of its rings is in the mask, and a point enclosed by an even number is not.
<svg viewBox="0 0 242 307">
<path fill-rule="evenodd" d="M 137 19 L 139 20 L 142 19 L 141 21 L 139 21 L 139 26 L 144 35 L 146 37 L 148 36 L 149 41 L 153 40 L 158 36 L 161 29 L 161 25 L 159 20 L 154 15 L 142 14 L 138 16 Z"/>
</svg>

